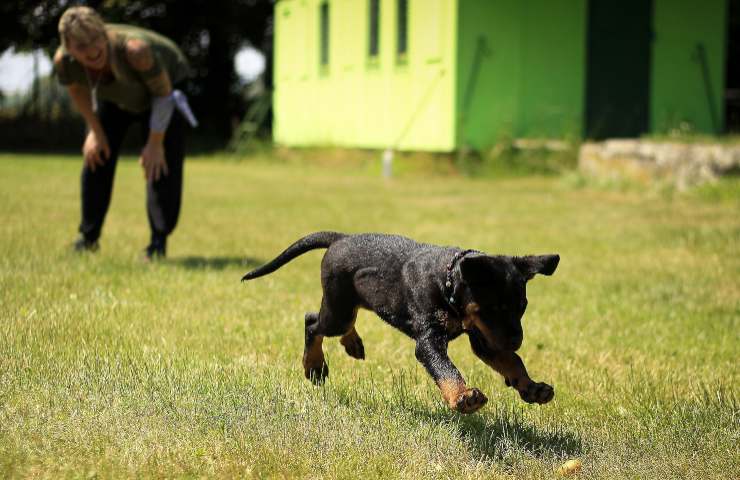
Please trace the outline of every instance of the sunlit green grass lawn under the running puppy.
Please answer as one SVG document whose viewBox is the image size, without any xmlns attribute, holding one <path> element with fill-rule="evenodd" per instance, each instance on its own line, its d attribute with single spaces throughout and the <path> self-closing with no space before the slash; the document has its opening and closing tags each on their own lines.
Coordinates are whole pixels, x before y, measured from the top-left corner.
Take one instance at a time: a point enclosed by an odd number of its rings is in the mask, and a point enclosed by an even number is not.
<svg viewBox="0 0 740 480">
<path fill-rule="evenodd" d="M 194 158 L 169 258 L 119 164 L 101 250 L 69 251 L 77 157 L 0 155 L 0 477 L 738 478 L 740 183 L 688 194 L 565 177 L 471 180 Z M 489 403 L 449 411 L 414 345 L 374 315 L 367 360 L 324 342 L 303 378 L 321 252 L 239 282 L 316 230 L 490 253 L 559 253 L 529 284 L 520 353 L 555 387 L 532 406 L 461 338 Z"/>
</svg>

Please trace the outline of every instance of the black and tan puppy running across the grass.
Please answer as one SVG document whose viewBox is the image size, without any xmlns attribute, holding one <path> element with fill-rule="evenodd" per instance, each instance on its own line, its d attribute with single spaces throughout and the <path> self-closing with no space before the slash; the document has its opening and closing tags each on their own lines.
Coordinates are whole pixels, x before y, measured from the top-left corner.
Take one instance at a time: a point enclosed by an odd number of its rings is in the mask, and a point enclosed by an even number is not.
<svg viewBox="0 0 740 480">
<path fill-rule="evenodd" d="M 474 250 L 418 243 L 397 235 L 317 232 L 296 241 L 243 280 L 267 275 L 298 255 L 327 248 L 321 261 L 323 298 L 319 313 L 307 313 L 303 368 L 322 383 L 329 374 L 324 337 L 340 336 L 354 358 L 365 358 L 355 330 L 358 308 L 416 341 L 416 358 L 442 391 L 450 408 L 472 413 L 486 396 L 468 388 L 447 356 L 447 344 L 466 333 L 473 352 L 504 377 L 528 403 L 547 403 L 550 385 L 532 381 L 514 352 L 522 344 L 526 284 L 535 274 L 552 275 L 558 255 L 490 256 Z"/>
</svg>

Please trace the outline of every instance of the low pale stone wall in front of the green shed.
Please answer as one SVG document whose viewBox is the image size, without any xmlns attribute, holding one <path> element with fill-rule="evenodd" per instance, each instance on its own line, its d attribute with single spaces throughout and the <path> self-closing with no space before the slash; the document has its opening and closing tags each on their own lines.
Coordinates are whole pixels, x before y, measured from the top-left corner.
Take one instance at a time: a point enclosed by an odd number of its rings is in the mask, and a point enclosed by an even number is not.
<svg viewBox="0 0 740 480">
<path fill-rule="evenodd" d="M 607 140 L 584 143 L 578 168 L 589 176 L 662 180 L 685 189 L 740 170 L 740 145 Z"/>
</svg>

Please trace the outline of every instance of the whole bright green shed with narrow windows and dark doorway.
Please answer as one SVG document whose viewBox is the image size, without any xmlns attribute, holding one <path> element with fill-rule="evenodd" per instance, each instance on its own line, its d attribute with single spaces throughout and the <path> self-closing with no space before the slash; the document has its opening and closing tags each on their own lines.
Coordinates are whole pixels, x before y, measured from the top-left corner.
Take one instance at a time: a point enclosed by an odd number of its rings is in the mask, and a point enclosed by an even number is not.
<svg viewBox="0 0 740 480">
<path fill-rule="evenodd" d="M 451 152 L 721 133 L 735 1 L 280 0 L 274 138 Z"/>
</svg>

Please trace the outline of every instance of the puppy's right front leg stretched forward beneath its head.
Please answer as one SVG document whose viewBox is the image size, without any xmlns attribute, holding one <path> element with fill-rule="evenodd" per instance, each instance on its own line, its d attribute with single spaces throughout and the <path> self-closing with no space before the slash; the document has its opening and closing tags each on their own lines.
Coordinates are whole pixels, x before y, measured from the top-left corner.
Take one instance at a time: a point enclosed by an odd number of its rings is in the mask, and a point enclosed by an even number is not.
<svg viewBox="0 0 740 480">
<path fill-rule="evenodd" d="M 527 374 L 521 357 L 511 351 L 483 352 L 473 345 L 473 352 L 491 368 L 503 375 L 507 387 L 513 387 L 527 403 L 547 403 L 555 396 L 555 390 L 542 382 L 535 382 Z"/>
</svg>

